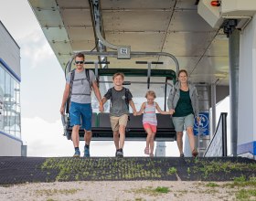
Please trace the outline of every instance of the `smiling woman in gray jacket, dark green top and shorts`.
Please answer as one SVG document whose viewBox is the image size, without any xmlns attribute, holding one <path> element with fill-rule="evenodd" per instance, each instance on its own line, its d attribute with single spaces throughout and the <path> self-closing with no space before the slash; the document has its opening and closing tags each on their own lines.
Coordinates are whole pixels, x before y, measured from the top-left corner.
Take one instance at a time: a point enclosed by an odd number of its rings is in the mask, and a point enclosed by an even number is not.
<svg viewBox="0 0 256 201">
<path fill-rule="evenodd" d="M 180 157 L 184 157 L 183 153 L 183 131 L 184 126 L 187 130 L 188 140 L 191 153 L 197 157 L 197 149 L 195 147 L 195 138 L 193 132 L 194 117 L 199 118 L 197 89 L 194 85 L 187 82 L 187 70 L 181 69 L 177 75 L 178 81 L 171 89 L 168 97 L 168 108 L 173 115 L 173 122 L 176 129 L 176 143 L 179 149 Z"/>
</svg>

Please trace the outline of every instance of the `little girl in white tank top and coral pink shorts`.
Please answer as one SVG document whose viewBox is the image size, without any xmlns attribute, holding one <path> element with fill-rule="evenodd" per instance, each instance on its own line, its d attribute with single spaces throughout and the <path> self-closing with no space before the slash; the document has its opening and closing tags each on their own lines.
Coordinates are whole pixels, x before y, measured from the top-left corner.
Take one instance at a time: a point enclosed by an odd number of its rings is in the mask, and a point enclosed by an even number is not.
<svg viewBox="0 0 256 201">
<path fill-rule="evenodd" d="M 144 112 L 143 124 L 144 130 L 147 133 L 144 153 L 154 156 L 154 139 L 157 126 L 155 109 L 161 114 L 170 114 L 170 112 L 162 111 L 159 105 L 154 101 L 156 98 L 155 91 L 148 90 L 145 94 L 145 98 L 147 101 L 142 104 L 141 110 L 137 112 L 137 115 L 141 115 Z"/>
</svg>

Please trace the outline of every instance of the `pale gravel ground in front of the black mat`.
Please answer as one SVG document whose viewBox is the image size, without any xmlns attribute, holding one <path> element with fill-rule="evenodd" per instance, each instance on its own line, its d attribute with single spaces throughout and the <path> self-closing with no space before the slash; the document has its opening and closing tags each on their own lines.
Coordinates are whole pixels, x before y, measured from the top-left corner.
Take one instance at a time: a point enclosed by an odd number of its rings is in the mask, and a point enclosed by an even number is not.
<svg viewBox="0 0 256 201">
<path fill-rule="evenodd" d="M 208 186 L 209 184 L 219 186 Z M 112 181 L 0 186 L 0 200 L 236 200 L 230 182 Z M 155 189 L 160 186 L 162 190 Z M 161 189 L 160 189 L 161 190 Z M 256 197 L 253 197 L 256 198 Z"/>
</svg>

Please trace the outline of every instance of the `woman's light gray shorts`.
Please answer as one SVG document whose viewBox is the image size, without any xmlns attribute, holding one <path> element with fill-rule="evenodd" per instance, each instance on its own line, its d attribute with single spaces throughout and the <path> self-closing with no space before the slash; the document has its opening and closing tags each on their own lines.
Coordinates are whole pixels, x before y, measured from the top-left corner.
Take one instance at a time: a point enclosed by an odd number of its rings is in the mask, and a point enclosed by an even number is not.
<svg viewBox="0 0 256 201">
<path fill-rule="evenodd" d="M 186 129 L 187 127 L 194 127 L 194 114 L 188 114 L 185 117 L 173 117 L 173 122 L 176 132 L 183 132 L 184 126 Z"/>
</svg>

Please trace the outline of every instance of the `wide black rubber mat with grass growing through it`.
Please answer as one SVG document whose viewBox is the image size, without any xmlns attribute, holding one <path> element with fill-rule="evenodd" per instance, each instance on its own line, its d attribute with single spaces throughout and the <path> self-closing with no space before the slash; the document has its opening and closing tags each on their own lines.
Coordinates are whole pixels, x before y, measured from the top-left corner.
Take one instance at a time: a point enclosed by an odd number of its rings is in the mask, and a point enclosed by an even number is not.
<svg viewBox="0 0 256 201">
<path fill-rule="evenodd" d="M 256 176 L 247 158 L 0 157 L 0 185 L 54 181 L 232 181 Z"/>
</svg>

